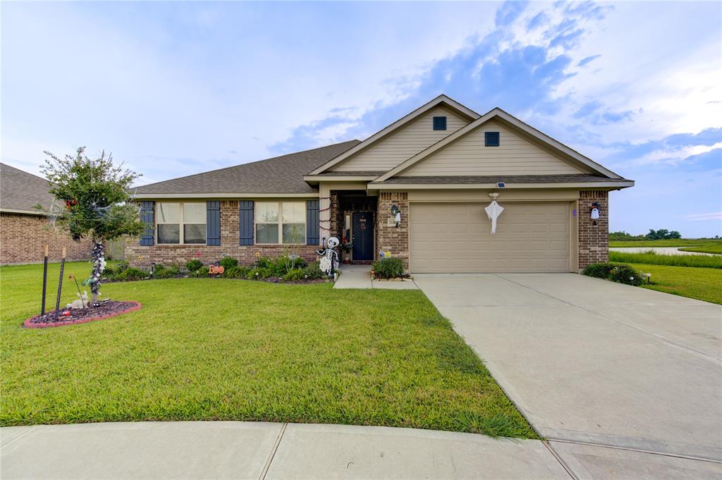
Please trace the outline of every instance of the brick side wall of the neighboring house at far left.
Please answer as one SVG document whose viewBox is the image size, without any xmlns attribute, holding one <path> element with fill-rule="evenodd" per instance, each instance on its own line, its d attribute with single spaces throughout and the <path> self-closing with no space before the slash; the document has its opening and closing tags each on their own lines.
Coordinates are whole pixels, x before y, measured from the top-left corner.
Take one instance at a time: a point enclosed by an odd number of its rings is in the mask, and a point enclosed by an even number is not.
<svg viewBox="0 0 722 480">
<path fill-rule="evenodd" d="M 90 258 L 90 240 L 75 242 L 64 232 L 50 227 L 42 215 L 0 214 L 0 264 L 40 263 L 45 245 L 48 260 L 60 261 L 63 248 L 67 260 Z"/>
</svg>

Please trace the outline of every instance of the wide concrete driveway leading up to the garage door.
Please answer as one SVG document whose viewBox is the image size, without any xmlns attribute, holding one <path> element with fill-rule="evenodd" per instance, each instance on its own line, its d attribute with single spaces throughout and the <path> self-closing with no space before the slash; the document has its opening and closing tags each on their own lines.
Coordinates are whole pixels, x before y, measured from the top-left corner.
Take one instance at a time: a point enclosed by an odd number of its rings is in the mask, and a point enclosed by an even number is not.
<svg viewBox="0 0 722 480">
<path fill-rule="evenodd" d="M 575 274 L 414 279 L 580 478 L 722 475 L 721 305 Z"/>
</svg>

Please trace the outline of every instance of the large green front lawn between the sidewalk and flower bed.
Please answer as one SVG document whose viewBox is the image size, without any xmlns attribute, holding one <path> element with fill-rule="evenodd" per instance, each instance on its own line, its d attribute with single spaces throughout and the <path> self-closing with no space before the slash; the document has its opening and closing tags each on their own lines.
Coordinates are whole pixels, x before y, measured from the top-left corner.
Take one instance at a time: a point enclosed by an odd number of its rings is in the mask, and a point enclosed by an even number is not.
<svg viewBox="0 0 722 480">
<path fill-rule="evenodd" d="M 2 425 L 258 420 L 536 437 L 422 292 L 129 282 L 101 292 L 142 310 L 22 328 L 38 313 L 41 271 L 0 270 Z M 75 287 L 65 287 L 69 302 Z"/>
</svg>

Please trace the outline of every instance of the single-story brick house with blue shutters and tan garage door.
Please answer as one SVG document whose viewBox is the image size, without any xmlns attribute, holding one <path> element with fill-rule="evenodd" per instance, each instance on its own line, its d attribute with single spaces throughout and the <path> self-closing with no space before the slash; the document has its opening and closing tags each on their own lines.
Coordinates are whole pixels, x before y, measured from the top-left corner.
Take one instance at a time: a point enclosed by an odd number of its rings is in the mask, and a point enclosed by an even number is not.
<svg viewBox="0 0 722 480">
<path fill-rule="evenodd" d="M 412 274 L 578 271 L 607 260 L 608 193 L 633 185 L 499 108 L 440 95 L 364 141 L 139 187 L 148 228 L 126 258 L 251 263 L 293 246 L 313 260 L 335 236 L 354 262 L 390 252 Z"/>
</svg>

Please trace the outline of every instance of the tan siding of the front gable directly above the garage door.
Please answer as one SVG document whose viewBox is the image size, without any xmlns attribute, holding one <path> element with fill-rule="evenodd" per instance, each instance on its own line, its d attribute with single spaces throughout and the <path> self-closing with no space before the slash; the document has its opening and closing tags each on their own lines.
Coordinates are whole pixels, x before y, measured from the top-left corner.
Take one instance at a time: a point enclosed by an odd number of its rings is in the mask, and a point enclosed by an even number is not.
<svg viewBox="0 0 722 480">
<path fill-rule="evenodd" d="M 499 132 L 499 147 L 484 147 L 485 131 Z M 500 123 L 489 121 L 399 176 L 558 175 L 580 171 Z"/>
</svg>

